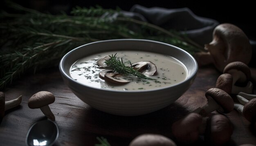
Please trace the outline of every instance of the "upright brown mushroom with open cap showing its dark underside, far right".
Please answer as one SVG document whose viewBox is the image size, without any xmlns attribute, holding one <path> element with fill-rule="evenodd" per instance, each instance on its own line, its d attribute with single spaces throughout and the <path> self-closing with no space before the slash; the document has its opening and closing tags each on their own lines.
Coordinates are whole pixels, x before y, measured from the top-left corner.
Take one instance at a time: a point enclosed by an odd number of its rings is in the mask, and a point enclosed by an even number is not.
<svg viewBox="0 0 256 146">
<path fill-rule="evenodd" d="M 232 94 L 239 92 L 252 93 L 252 83 L 248 82 L 251 77 L 249 67 L 243 62 L 231 62 L 225 66 L 223 73 L 229 73 L 233 77 Z M 247 83 L 245 87 L 236 85 L 237 83 Z"/>
</svg>

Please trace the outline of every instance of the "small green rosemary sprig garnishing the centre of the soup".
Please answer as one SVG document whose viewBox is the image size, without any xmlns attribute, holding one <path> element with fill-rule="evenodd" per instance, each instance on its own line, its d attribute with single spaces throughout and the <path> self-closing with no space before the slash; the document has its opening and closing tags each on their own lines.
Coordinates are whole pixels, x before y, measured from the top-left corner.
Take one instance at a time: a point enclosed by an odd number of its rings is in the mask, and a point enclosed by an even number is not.
<svg viewBox="0 0 256 146">
<path fill-rule="evenodd" d="M 138 72 L 137 70 L 133 69 L 132 63 L 130 62 L 130 66 L 126 66 L 123 62 L 123 59 L 121 60 L 117 58 L 117 53 L 115 55 L 109 55 L 110 60 L 106 60 L 105 63 L 108 65 L 108 67 L 112 68 L 115 72 L 121 73 L 124 75 L 134 75 L 136 77 L 139 77 L 141 79 L 146 79 L 146 80 L 154 80 L 150 77 L 147 77 L 146 75 Z"/>
</svg>

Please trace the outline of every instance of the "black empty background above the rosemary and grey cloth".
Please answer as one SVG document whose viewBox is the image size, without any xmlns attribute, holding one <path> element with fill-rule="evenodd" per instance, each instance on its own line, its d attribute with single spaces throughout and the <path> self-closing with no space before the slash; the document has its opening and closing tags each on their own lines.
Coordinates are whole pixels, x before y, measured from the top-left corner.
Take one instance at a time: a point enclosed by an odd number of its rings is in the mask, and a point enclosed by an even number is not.
<svg viewBox="0 0 256 146">
<path fill-rule="evenodd" d="M 53 14 L 59 11 L 69 13 L 72 7 L 95 7 L 129 11 L 134 4 L 144 7 L 164 7 L 167 9 L 188 7 L 196 15 L 212 18 L 220 23 L 232 23 L 240 27 L 251 40 L 256 40 L 256 10 L 253 1 L 234 0 L 13 0 L 25 7 Z M 2 5 L 1 7 L 4 7 Z"/>
</svg>

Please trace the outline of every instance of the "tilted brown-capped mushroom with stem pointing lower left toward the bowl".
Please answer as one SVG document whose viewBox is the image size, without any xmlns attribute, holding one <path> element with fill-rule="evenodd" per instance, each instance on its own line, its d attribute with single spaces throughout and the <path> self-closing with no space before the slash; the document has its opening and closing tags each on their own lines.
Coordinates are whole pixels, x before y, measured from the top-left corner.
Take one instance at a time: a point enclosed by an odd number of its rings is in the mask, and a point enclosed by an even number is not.
<svg viewBox="0 0 256 146">
<path fill-rule="evenodd" d="M 206 91 L 207 104 L 197 108 L 194 113 L 207 116 L 217 110 L 221 113 L 230 113 L 234 108 L 234 101 L 231 96 L 219 88 L 210 88 Z"/>
</svg>

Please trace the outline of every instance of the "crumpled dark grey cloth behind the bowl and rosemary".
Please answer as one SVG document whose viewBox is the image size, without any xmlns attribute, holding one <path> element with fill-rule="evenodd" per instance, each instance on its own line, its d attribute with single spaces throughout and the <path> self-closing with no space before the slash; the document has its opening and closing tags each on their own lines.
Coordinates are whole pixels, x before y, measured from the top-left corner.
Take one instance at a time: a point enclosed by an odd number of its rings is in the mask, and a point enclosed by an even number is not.
<svg viewBox="0 0 256 146">
<path fill-rule="evenodd" d="M 195 15 L 188 8 L 146 8 L 136 4 L 130 12 L 132 13 L 125 13 L 125 15 L 167 30 L 174 29 L 180 33 L 186 33 L 191 40 L 202 46 L 211 42 L 213 29 L 219 24 L 216 20 Z"/>
</svg>

